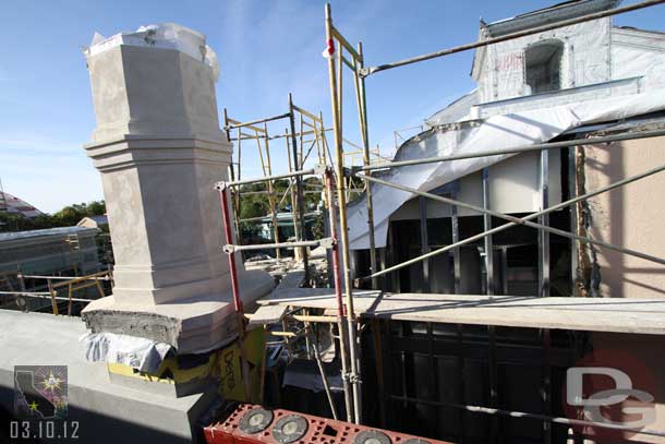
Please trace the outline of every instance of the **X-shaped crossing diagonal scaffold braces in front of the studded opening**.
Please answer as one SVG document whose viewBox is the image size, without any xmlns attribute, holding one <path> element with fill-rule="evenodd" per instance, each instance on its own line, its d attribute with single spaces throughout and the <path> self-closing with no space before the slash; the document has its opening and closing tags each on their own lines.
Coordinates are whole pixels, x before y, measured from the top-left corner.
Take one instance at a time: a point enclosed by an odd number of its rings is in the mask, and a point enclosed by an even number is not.
<svg viewBox="0 0 665 444">
<path fill-rule="evenodd" d="M 491 230 L 480 232 L 480 233 L 471 236 L 471 237 L 469 237 L 467 239 L 462 239 L 459 242 L 454 242 L 454 243 L 451 243 L 449 245 L 446 245 L 446 247 L 443 247 L 443 248 L 440 248 L 438 250 L 434 250 L 434 251 L 431 251 L 428 253 L 422 254 L 422 255 L 420 255 L 418 257 L 410 259 L 410 260 L 404 261 L 402 263 L 399 263 L 397 265 L 392 265 L 392 266 L 390 266 L 388 268 L 384 268 L 380 272 L 376 272 L 376 273 L 374 273 L 372 275 L 358 278 L 358 280 L 368 280 L 368 279 L 372 279 L 373 277 L 378 277 L 378 276 L 385 275 L 387 273 L 396 272 L 396 271 L 398 271 L 400 268 L 404 268 L 407 266 L 416 264 L 416 263 L 419 263 L 421 261 L 424 261 L 426 259 L 436 256 L 438 254 L 443 254 L 443 253 L 445 253 L 447 251 L 455 250 L 455 249 L 460 248 L 460 247 L 462 247 L 464 244 L 468 244 L 468 243 L 471 243 L 471 242 L 475 242 L 476 240 L 483 239 L 486 236 L 495 235 L 495 233 L 497 233 L 499 231 L 504 231 L 504 230 L 506 230 L 508 228 L 511 228 L 511 227 L 515 227 L 517 225 L 530 225 L 531 223 L 529 223 L 529 220 L 535 219 L 535 218 L 537 218 L 537 217 L 540 217 L 540 216 L 542 216 L 544 214 L 548 214 L 548 213 L 552 213 L 552 212 L 565 208 L 565 207 L 567 207 L 569 205 L 576 204 L 576 203 L 581 202 L 581 201 L 585 201 L 585 200 L 591 199 L 593 196 L 596 196 L 598 194 L 605 193 L 607 191 L 614 190 L 614 189 L 619 188 L 619 187 L 624 187 L 624 185 L 626 185 L 628 183 L 638 181 L 640 179 L 644 179 L 644 178 L 646 178 L 649 176 L 653 176 L 653 175 L 655 175 L 657 172 L 661 172 L 661 171 L 665 171 L 665 165 L 662 165 L 660 167 L 650 169 L 650 170 L 641 172 L 639 175 L 631 176 L 629 178 L 619 180 L 617 182 L 610 183 L 610 184 L 608 184 L 606 187 L 602 187 L 602 188 L 600 188 L 600 189 L 597 189 L 595 191 L 591 191 L 589 193 L 585 193 L 585 194 L 579 195 L 577 197 L 570 199 L 568 201 L 561 202 L 561 203 L 559 203 L 557 205 L 551 206 L 551 207 L 545 208 L 543 211 L 540 211 L 540 212 L 536 212 L 536 213 L 532 213 L 529 216 L 525 216 L 525 217 L 522 217 L 522 218 L 519 218 L 519 219 L 515 218 L 516 220 L 509 221 L 508 224 L 504 224 L 501 226 L 492 228 Z M 385 181 L 383 181 L 380 179 L 376 179 L 374 177 L 367 177 L 367 176 L 364 176 L 364 175 L 359 175 L 359 177 L 362 177 L 365 180 L 371 180 L 371 181 L 374 181 L 374 182 L 376 182 L 377 180 L 379 180 L 380 182 L 385 182 Z M 394 185 L 394 183 L 390 183 L 390 182 L 386 182 L 386 183 L 388 185 Z M 398 187 L 401 188 L 401 185 L 398 185 Z M 421 195 L 424 194 L 424 195 L 430 196 L 430 193 L 423 193 L 421 191 L 413 190 L 413 189 L 407 189 L 407 190 L 410 191 L 410 192 L 413 192 L 413 194 L 421 194 Z M 404 191 L 407 191 L 407 190 L 404 190 Z M 432 195 L 434 197 L 437 197 L 437 200 L 438 200 L 438 197 L 446 199 L 446 197 L 438 196 L 438 195 L 435 195 L 435 194 L 432 194 Z M 454 200 L 447 200 L 447 201 L 454 202 L 452 205 L 467 206 L 467 207 L 469 206 L 469 204 L 463 203 L 463 202 L 458 202 L 458 201 L 454 201 Z M 447 203 L 449 203 L 449 202 L 447 202 Z M 473 205 L 471 205 L 471 206 L 473 206 Z M 484 208 L 480 208 L 480 207 L 474 207 L 474 208 L 477 208 L 476 211 L 480 211 L 481 213 L 484 212 Z M 506 216 L 506 215 L 503 215 L 503 216 Z M 507 216 L 507 217 L 512 218 L 512 216 Z M 534 225 L 537 225 L 537 224 L 534 224 Z M 551 228 L 551 227 L 548 227 L 548 228 Z M 571 238 L 575 238 L 575 239 L 577 239 L 577 240 L 579 240 L 581 242 L 589 242 L 589 243 L 591 243 L 591 241 L 593 241 L 593 243 L 596 243 L 596 244 L 600 244 L 602 247 L 606 247 L 606 248 L 609 248 L 609 249 L 614 249 L 614 250 L 620 249 L 620 248 L 618 248 L 616 245 L 612 245 L 612 244 L 608 244 L 606 242 L 601 242 L 601 241 L 595 241 L 595 240 L 592 240 L 592 239 L 589 239 L 589 238 L 583 238 L 581 236 L 572 235 L 572 233 L 567 232 L 567 231 L 556 230 L 556 229 L 554 229 L 555 231 L 552 231 L 552 230 L 553 230 L 552 228 L 548 229 L 549 232 L 555 232 L 556 235 L 560 235 L 560 236 L 564 236 L 564 237 L 571 237 Z M 641 257 L 641 259 L 644 259 L 644 260 L 648 260 L 648 261 L 653 261 L 653 262 L 656 262 L 656 263 L 660 263 L 660 264 L 665 264 L 665 261 L 660 259 L 660 257 L 653 257 L 653 256 L 650 256 L 648 254 L 643 254 L 643 253 L 640 253 L 640 252 L 633 252 L 632 250 L 620 249 L 618 251 L 621 251 L 621 252 L 624 252 L 626 254 L 637 255 L 638 257 Z"/>
</svg>

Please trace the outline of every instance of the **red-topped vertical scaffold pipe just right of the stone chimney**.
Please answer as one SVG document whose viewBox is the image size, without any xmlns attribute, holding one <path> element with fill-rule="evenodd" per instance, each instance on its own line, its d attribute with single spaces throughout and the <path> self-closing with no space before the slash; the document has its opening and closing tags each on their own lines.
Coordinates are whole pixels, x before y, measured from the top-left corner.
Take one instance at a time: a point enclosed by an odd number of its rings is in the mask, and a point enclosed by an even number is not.
<svg viewBox="0 0 665 444">
<path fill-rule="evenodd" d="M 227 188 L 221 187 L 219 189 L 219 196 L 221 202 L 221 216 L 223 219 L 223 233 L 227 244 L 233 243 L 233 236 L 231 232 L 231 215 L 229 211 L 229 202 L 227 197 Z M 244 348 L 244 336 L 245 336 L 245 322 L 244 322 L 244 308 L 242 299 L 240 297 L 240 288 L 238 286 L 238 268 L 235 266 L 235 253 L 230 252 L 229 256 L 229 272 L 231 275 L 231 289 L 233 292 L 233 308 L 235 309 L 235 317 L 238 322 L 238 347 L 240 348 L 240 361 L 242 382 L 244 388 L 245 400 L 251 401 L 251 389 L 250 389 L 250 367 L 247 364 L 247 357 Z"/>
</svg>

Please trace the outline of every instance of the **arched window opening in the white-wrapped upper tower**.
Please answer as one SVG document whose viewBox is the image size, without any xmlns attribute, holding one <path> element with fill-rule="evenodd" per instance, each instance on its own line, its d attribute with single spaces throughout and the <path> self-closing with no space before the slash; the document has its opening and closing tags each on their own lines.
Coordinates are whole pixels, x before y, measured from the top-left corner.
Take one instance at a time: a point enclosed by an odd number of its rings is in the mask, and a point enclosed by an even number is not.
<svg viewBox="0 0 665 444">
<path fill-rule="evenodd" d="M 524 52 L 527 85 L 531 94 L 546 93 L 561 88 L 561 57 L 564 44 L 559 40 L 544 40 L 531 45 Z"/>
</svg>

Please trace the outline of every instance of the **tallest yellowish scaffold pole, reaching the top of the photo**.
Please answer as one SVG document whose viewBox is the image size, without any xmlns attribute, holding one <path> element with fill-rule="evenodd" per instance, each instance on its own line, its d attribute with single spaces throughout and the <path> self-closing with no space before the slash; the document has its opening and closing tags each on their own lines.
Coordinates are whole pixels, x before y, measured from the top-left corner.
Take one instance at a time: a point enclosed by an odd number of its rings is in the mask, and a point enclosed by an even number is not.
<svg viewBox="0 0 665 444">
<path fill-rule="evenodd" d="M 353 310 L 353 293 L 351 289 L 351 272 L 349 269 L 349 232 L 347 227 L 347 199 L 344 194 L 344 159 L 342 152 L 341 120 L 339 118 L 337 75 L 335 72 L 335 44 L 332 36 L 332 19 L 330 16 L 330 4 L 326 3 L 326 41 L 328 45 L 328 74 L 330 80 L 330 98 L 332 106 L 332 128 L 335 135 L 335 158 L 337 161 L 337 199 L 339 201 L 339 226 L 342 249 L 342 269 L 344 276 L 344 290 L 347 302 L 347 325 L 349 326 L 349 350 L 350 350 L 350 379 L 353 392 L 353 419 L 355 423 L 361 423 L 361 391 L 360 377 L 358 374 L 358 344 L 355 340 L 355 312 Z M 341 50 L 341 48 L 340 48 Z M 340 73 L 341 74 L 341 73 Z"/>
</svg>

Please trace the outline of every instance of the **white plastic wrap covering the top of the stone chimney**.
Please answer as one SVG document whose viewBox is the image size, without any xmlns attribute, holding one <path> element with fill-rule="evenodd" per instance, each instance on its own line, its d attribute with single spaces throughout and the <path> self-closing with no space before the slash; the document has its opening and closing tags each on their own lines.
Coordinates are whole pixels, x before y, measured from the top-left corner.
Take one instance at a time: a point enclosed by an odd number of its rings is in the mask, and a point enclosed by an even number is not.
<svg viewBox="0 0 665 444">
<path fill-rule="evenodd" d="M 121 45 L 176 49 L 209 65 L 215 81 L 219 77 L 217 55 L 206 45 L 205 36 L 176 23 L 141 26 L 133 33 L 120 33 L 108 38 L 95 33 L 90 46 L 84 48 L 83 53 L 92 57 Z"/>
</svg>

